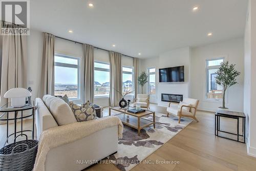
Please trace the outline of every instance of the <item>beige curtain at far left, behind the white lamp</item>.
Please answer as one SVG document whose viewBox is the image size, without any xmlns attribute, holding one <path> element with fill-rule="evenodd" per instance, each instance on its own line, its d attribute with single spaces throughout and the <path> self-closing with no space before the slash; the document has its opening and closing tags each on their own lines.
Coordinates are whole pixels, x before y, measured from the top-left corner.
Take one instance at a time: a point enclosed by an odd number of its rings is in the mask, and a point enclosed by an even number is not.
<svg viewBox="0 0 256 171">
<path fill-rule="evenodd" d="M 1 27 L 17 29 L 20 26 L 1 21 Z M 27 36 L 20 34 L 1 36 L 2 71 L 0 105 L 8 102 L 4 94 L 12 88 L 27 88 Z"/>
</svg>

